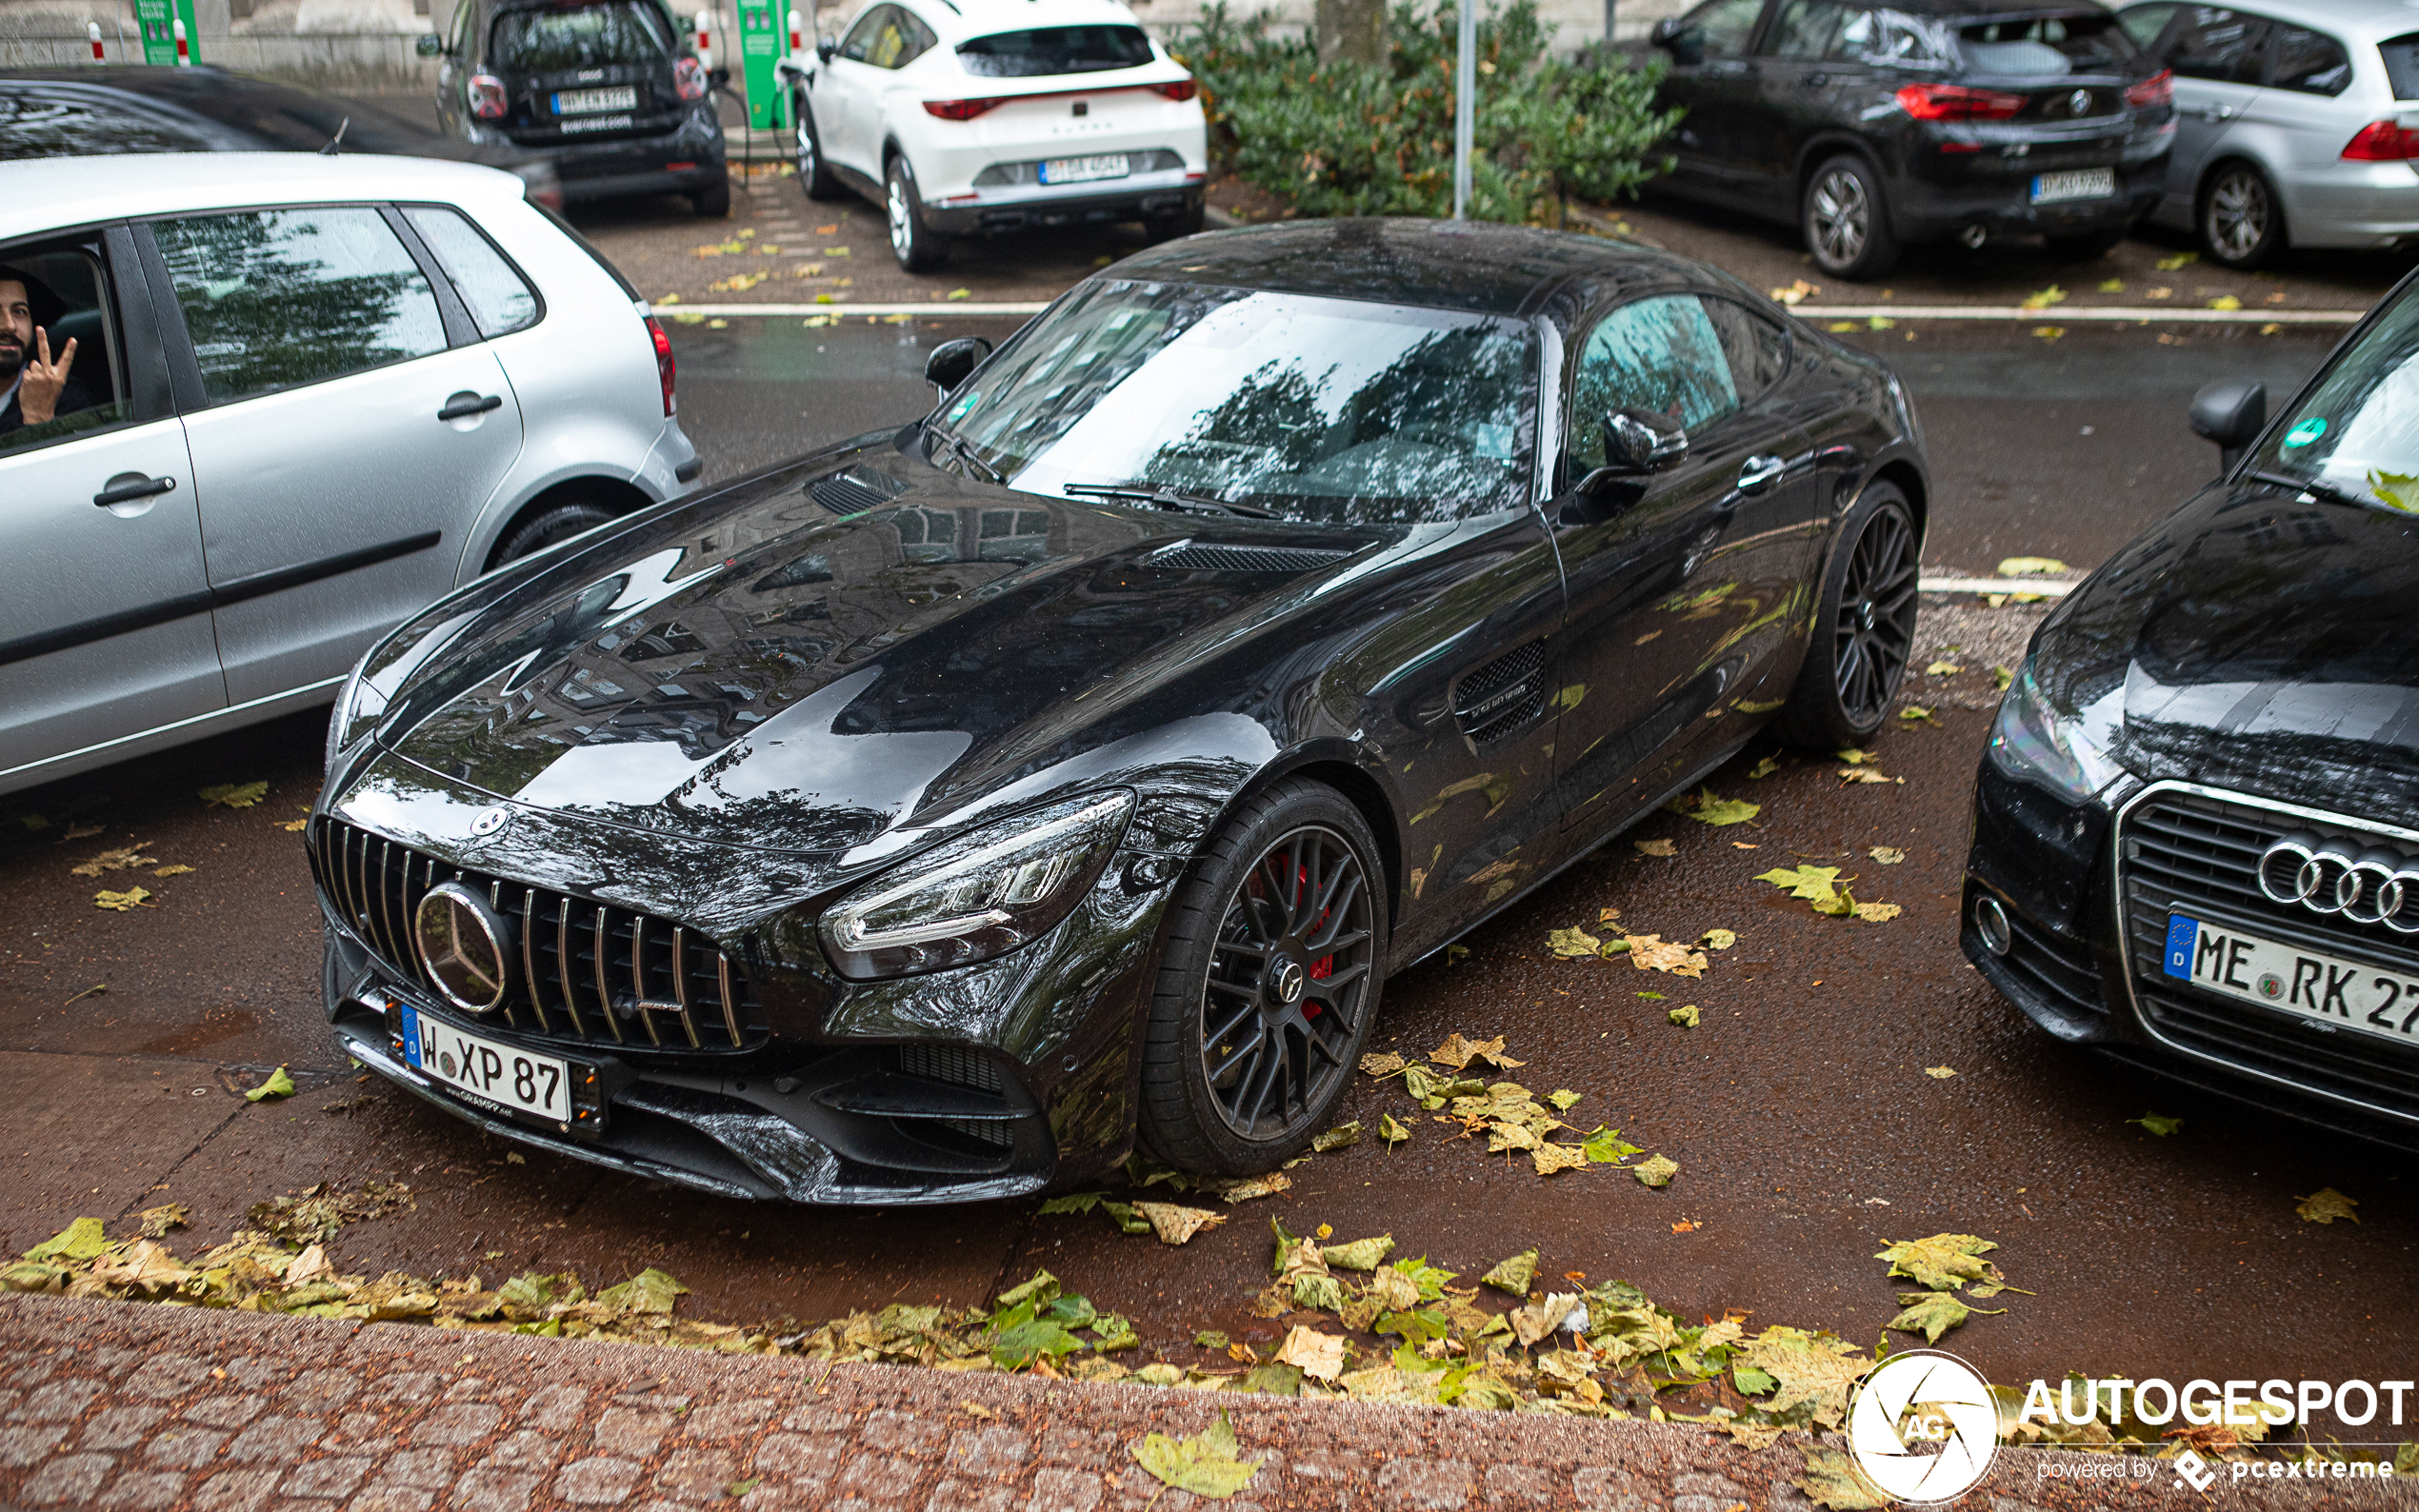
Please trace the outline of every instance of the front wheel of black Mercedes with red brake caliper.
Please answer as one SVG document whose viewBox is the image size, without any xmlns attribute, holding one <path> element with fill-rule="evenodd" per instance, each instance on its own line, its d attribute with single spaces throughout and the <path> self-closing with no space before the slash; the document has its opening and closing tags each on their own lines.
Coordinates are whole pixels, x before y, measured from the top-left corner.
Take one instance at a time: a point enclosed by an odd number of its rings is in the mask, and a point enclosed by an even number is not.
<svg viewBox="0 0 2419 1512">
<path fill-rule="evenodd" d="M 1275 1171 L 1343 1101 L 1384 982 L 1376 837 L 1284 779 L 1226 820 L 1168 905 L 1142 1050 L 1142 1139 L 1210 1176 Z"/>
</svg>

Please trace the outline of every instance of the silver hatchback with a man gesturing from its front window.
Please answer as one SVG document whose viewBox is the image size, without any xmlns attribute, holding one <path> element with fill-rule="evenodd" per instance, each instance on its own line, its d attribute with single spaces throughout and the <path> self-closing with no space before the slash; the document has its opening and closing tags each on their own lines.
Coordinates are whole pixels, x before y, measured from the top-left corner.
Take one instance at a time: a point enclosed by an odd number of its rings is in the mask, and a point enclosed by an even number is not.
<svg viewBox="0 0 2419 1512">
<path fill-rule="evenodd" d="M 0 162 L 5 300 L 51 370 L 0 310 L 0 793 L 329 702 L 702 472 L 646 305 L 486 167 Z"/>
</svg>

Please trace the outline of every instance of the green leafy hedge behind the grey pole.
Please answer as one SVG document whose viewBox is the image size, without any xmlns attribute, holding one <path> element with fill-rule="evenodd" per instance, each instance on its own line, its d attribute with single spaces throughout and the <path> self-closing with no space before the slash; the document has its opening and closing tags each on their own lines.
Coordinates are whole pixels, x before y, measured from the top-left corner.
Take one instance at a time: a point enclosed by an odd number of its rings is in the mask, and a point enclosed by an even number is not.
<svg viewBox="0 0 2419 1512">
<path fill-rule="evenodd" d="M 1275 12 L 1202 12 L 1176 53 L 1210 111 L 1212 148 L 1304 215 L 1451 215 L 1451 5 L 1398 5 L 1384 65 L 1321 65 L 1309 39 L 1270 36 Z M 1471 215 L 1560 225 L 1565 198 L 1606 201 L 1669 172 L 1652 148 L 1679 111 L 1655 109 L 1662 63 L 1546 56 L 1534 0 L 1478 19 Z"/>
</svg>

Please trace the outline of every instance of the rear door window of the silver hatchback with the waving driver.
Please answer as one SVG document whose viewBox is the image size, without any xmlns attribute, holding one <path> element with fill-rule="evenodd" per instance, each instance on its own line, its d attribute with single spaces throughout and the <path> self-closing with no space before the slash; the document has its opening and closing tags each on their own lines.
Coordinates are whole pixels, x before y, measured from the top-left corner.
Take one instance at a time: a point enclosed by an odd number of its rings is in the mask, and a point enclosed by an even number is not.
<svg viewBox="0 0 2419 1512">
<path fill-rule="evenodd" d="M 152 223 L 210 404 L 445 351 L 421 266 L 368 206 Z"/>
</svg>

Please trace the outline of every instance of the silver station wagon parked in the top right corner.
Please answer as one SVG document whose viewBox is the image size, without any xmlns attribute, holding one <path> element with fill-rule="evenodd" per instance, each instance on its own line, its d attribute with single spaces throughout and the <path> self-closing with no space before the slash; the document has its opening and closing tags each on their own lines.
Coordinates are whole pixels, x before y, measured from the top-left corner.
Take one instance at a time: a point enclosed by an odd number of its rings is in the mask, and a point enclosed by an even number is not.
<svg viewBox="0 0 2419 1512">
<path fill-rule="evenodd" d="M 2419 10 L 2146 0 L 2119 17 L 2175 70 L 2175 155 L 2150 220 L 2233 269 L 2419 237 Z"/>
</svg>

